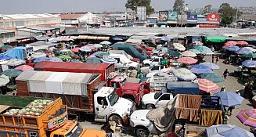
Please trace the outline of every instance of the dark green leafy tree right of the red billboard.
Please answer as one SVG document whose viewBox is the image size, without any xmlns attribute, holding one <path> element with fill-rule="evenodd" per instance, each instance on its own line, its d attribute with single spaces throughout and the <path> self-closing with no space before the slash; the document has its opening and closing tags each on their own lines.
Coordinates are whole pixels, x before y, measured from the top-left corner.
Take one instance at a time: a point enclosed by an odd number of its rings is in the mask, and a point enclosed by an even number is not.
<svg viewBox="0 0 256 137">
<path fill-rule="evenodd" d="M 237 9 L 229 5 L 229 3 L 222 3 L 218 9 L 218 13 L 221 15 L 221 23 L 226 27 L 227 25 L 233 23 L 236 18 Z M 237 12 L 237 18 L 240 16 L 240 11 Z"/>
</svg>

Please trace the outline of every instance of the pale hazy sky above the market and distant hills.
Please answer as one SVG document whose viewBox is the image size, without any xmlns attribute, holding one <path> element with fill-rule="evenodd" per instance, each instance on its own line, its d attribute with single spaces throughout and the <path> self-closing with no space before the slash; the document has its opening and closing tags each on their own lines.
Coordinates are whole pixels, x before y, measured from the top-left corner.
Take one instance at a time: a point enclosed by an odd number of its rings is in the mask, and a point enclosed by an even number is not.
<svg viewBox="0 0 256 137">
<path fill-rule="evenodd" d="M 125 12 L 127 0 L 0 0 L 0 14 L 69 13 L 69 12 Z M 172 9 L 175 0 L 151 0 L 155 10 Z M 256 0 L 185 0 L 190 9 L 213 5 L 218 8 L 227 2 L 236 7 L 256 6 Z"/>
</svg>

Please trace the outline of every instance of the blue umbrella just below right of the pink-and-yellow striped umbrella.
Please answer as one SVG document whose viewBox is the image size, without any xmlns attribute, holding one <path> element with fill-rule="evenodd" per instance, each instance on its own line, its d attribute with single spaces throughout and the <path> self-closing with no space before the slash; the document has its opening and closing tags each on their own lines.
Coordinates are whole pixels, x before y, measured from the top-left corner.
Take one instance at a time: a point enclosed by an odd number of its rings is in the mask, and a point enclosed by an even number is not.
<svg viewBox="0 0 256 137">
<path fill-rule="evenodd" d="M 221 104 L 223 106 L 236 106 L 243 102 L 243 97 L 236 94 L 236 92 L 218 92 L 213 96 L 218 96 L 221 99 Z"/>
</svg>

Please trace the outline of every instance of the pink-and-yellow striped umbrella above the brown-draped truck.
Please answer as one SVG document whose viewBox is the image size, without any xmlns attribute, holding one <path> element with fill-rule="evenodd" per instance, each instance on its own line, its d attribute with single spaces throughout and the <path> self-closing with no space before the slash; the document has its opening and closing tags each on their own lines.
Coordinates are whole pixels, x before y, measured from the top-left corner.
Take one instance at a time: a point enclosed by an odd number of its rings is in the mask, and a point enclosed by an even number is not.
<svg viewBox="0 0 256 137">
<path fill-rule="evenodd" d="M 216 92 L 218 90 L 218 85 L 207 79 L 198 80 L 199 89 L 204 92 Z"/>
</svg>

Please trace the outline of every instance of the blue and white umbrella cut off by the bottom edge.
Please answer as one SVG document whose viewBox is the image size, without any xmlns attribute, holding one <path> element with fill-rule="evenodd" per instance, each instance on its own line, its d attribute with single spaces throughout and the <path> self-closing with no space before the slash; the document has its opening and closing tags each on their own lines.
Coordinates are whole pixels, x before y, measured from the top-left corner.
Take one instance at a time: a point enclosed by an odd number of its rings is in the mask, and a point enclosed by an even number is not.
<svg viewBox="0 0 256 137">
<path fill-rule="evenodd" d="M 207 137 L 254 137 L 251 132 L 230 124 L 212 125 L 205 130 Z"/>
</svg>

